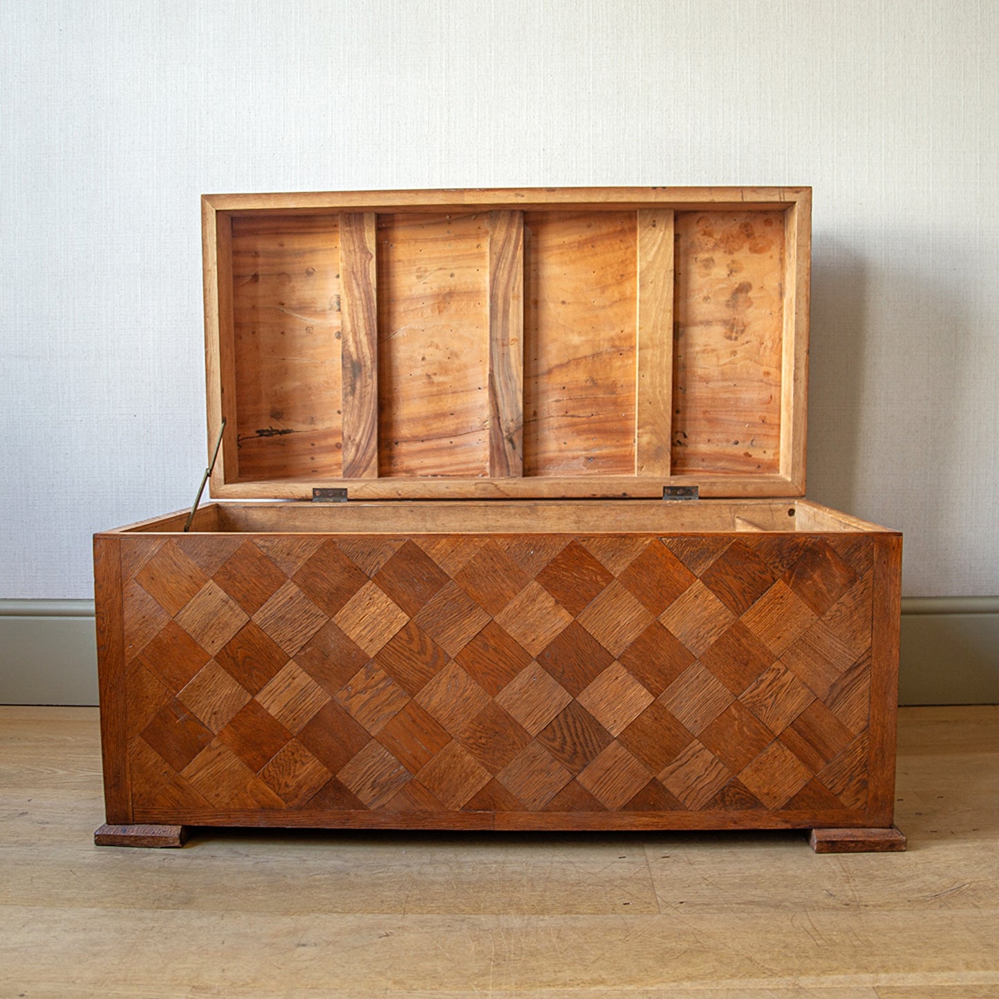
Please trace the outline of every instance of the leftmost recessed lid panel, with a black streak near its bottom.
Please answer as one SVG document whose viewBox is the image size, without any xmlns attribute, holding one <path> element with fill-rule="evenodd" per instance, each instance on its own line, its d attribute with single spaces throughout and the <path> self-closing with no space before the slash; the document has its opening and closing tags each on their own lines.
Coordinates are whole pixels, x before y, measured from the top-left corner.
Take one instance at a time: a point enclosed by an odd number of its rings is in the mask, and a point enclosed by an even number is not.
<svg viewBox="0 0 999 999">
<path fill-rule="evenodd" d="M 239 474 L 343 475 L 337 216 L 236 217 Z"/>
</svg>

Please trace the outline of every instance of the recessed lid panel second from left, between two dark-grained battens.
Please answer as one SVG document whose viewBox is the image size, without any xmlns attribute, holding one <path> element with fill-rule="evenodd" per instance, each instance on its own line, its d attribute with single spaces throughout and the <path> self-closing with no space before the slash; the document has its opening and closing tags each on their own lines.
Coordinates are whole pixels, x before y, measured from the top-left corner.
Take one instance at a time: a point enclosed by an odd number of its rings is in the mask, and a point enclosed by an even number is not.
<svg viewBox="0 0 999 999">
<path fill-rule="evenodd" d="M 489 213 L 378 217 L 379 475 L 490 470 Z"/>
</svg>

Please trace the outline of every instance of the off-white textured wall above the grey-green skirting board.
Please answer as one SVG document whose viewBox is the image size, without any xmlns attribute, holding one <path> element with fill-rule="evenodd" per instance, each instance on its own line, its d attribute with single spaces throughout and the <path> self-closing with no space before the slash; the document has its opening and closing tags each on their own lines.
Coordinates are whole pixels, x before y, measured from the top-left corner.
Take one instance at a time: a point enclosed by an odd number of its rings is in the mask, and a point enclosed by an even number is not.
<svg viewBox="0 0 999 999">
<path fill-rule="evenodd" d="M 205 462 L 198 196 L 811 184 L 809 495 L 999 591 L 995 0 L 0 3 L 0 597 Z"/>
</svg>

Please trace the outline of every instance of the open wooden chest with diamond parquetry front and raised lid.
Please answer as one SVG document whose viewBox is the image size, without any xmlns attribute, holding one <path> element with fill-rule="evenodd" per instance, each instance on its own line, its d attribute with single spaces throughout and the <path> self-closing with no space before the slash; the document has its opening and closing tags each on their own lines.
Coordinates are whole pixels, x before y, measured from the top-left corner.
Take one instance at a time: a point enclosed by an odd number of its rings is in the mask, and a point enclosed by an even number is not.
<svg viewBox="0 0 999 999">
<path fill-rule="evenodd" d="M 99 843 L 904 846 L 901 537 L 798 499 L 808 189 L 203 208 L 211 488 L 244 501 L 95 537 Z"/>
</svg>

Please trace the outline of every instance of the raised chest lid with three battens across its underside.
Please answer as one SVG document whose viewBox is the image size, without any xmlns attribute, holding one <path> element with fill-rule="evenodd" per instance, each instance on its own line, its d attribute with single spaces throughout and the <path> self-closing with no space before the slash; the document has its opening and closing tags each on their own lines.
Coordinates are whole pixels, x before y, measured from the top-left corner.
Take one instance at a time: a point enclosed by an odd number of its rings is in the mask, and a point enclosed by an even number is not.
<svg viewBox="0 0 999 999">
<path fill-rule="evenodd" d="M 205 196 L 211 493 L 800 496 L 810 223 L 809 188 Z"/>
</svg>

